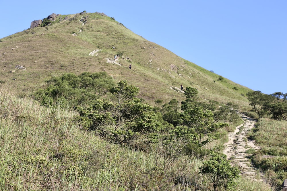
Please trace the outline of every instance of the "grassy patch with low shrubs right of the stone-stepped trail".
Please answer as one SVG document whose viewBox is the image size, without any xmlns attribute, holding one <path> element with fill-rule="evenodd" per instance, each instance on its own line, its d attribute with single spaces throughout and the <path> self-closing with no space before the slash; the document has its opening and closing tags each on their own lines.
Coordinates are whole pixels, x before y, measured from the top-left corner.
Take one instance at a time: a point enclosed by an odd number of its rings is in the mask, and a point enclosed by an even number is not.
<svg viewBox="0 0 287 191">
<path fill-rule="evenodd" d="M 252 151 L 252 162 L 265 172 L 264 179 L 266 182 L 270 185 L 274 185 L 276 188 L 279 188 L 286 178 L 286 125 L 286 121 L 261 118 L 256 124 L 256 128 L 253 130 L 254 132 L 249 133 L 249 136 L 255 139 L 256 143 L 261 147 L 261 150 L 255 153 Z M 272 156 L 266 158 L 263 157 L 263 155 Z"/>
</svg>

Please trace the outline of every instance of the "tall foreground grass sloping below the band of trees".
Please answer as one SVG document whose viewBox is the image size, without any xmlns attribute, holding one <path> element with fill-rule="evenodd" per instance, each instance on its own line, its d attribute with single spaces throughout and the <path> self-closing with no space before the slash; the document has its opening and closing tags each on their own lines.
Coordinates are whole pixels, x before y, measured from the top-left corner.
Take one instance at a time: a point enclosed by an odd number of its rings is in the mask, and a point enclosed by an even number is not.
<svg viewBox="0 0 287 191">
<path fill-rule="evenodd" d="M 0 87 L 0 190 L 210 190 L 204 159 L 183 156 L 164 171 L 163 156 L 109 143 L 75 121 L 73 111 L 42 107 Z M 236 180 L 235 190 L 267 191 Z"/>
</svg>

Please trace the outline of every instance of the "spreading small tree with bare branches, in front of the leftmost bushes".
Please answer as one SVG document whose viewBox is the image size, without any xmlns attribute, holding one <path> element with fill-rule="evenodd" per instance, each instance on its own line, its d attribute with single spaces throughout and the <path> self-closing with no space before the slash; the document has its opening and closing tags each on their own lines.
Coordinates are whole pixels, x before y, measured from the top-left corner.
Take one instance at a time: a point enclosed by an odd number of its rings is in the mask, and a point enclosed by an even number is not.
<svg viewBox="0 0 287 191">
<path fill-rule="evenodd" d="M 77 107 L 89 129 L 114 139 L 117 143 L 145 143 L 152 141 L 153 133 L 160 128 L 158 117 L 152 107 L 136 98 L 138 88 L 120 81 L 118 87 L 110 88 L 115 101 L 97 99 L 92 107 Z"/>
</svg>

